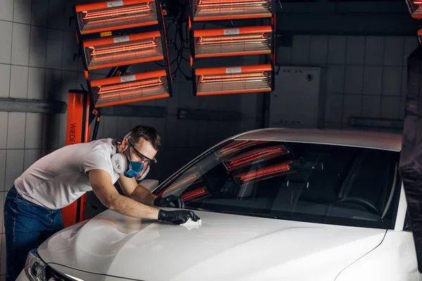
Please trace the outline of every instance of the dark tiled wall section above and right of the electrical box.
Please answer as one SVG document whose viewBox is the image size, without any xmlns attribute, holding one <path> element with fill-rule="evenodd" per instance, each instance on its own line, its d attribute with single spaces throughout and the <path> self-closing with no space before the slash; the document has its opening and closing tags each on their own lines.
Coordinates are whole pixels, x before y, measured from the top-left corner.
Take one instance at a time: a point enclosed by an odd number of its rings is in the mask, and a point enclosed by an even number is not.
<svg viewBox="0 0 422 281">
<path fill-rule="evenodd" d="M 402 119 L 407 56 L 416 37 L 297 35 L 279 48 L 283 65 L 319 66 L 327 128 L 352 129 L 349 117 Z"/>
</svg>

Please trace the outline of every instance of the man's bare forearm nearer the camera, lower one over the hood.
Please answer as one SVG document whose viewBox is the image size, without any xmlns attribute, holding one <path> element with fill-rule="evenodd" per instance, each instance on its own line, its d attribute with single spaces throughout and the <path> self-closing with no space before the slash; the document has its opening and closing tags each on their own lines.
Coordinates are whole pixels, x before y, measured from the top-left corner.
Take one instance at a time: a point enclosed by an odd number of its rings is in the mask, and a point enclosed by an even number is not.
<svg viewBox="0 0 422 281">
<path fill-rule="evenodd" d="M 108 207 L 113 211 L 117 211 L 117 213 L 134 218 L 158 219 L 158 211 L 160 211 L 157 208 L 136 202 L 123 195 L 113 198 Z"/>
</svg>

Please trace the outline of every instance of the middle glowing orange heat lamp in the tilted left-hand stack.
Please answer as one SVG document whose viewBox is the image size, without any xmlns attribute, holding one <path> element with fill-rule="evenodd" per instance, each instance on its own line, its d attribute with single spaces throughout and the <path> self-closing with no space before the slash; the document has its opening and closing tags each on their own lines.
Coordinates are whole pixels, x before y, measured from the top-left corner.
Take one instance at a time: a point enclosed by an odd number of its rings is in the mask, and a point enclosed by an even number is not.
<svg viewBox="0 0 422 281">
<path fill-rule="evenodd" d="M 161 31 L 82 42 L 85 70 L 134 65 L 167 60 L 165 39 Z"/>
</svg>

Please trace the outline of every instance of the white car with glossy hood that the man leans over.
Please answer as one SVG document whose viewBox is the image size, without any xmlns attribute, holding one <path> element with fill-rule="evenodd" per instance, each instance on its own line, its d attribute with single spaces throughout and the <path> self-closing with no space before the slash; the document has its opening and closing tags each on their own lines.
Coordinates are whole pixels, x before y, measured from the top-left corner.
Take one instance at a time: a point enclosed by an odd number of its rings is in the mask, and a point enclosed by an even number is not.
<svg viewBox="0 0 422 281">
<path fill-rule="evenodd" d="M 32 251 L 18 280 L 421 280 L 400 149 L 386 133 L 234 136 L 154 190 L 200 224 L 107 210 Z"/>
</svg>

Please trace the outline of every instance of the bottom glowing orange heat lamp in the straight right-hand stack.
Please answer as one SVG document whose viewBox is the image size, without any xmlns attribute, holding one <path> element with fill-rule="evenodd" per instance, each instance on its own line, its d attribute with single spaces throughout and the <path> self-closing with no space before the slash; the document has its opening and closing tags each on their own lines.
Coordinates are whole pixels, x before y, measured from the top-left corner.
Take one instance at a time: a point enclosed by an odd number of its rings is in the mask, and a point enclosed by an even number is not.
<svg viewBox="0 0 422 281">
<path fill-rule="evenodd" d="M 272 65 L 197 68 L 193 77 L 194 96 L 274 91 Z"/>
</svg>

